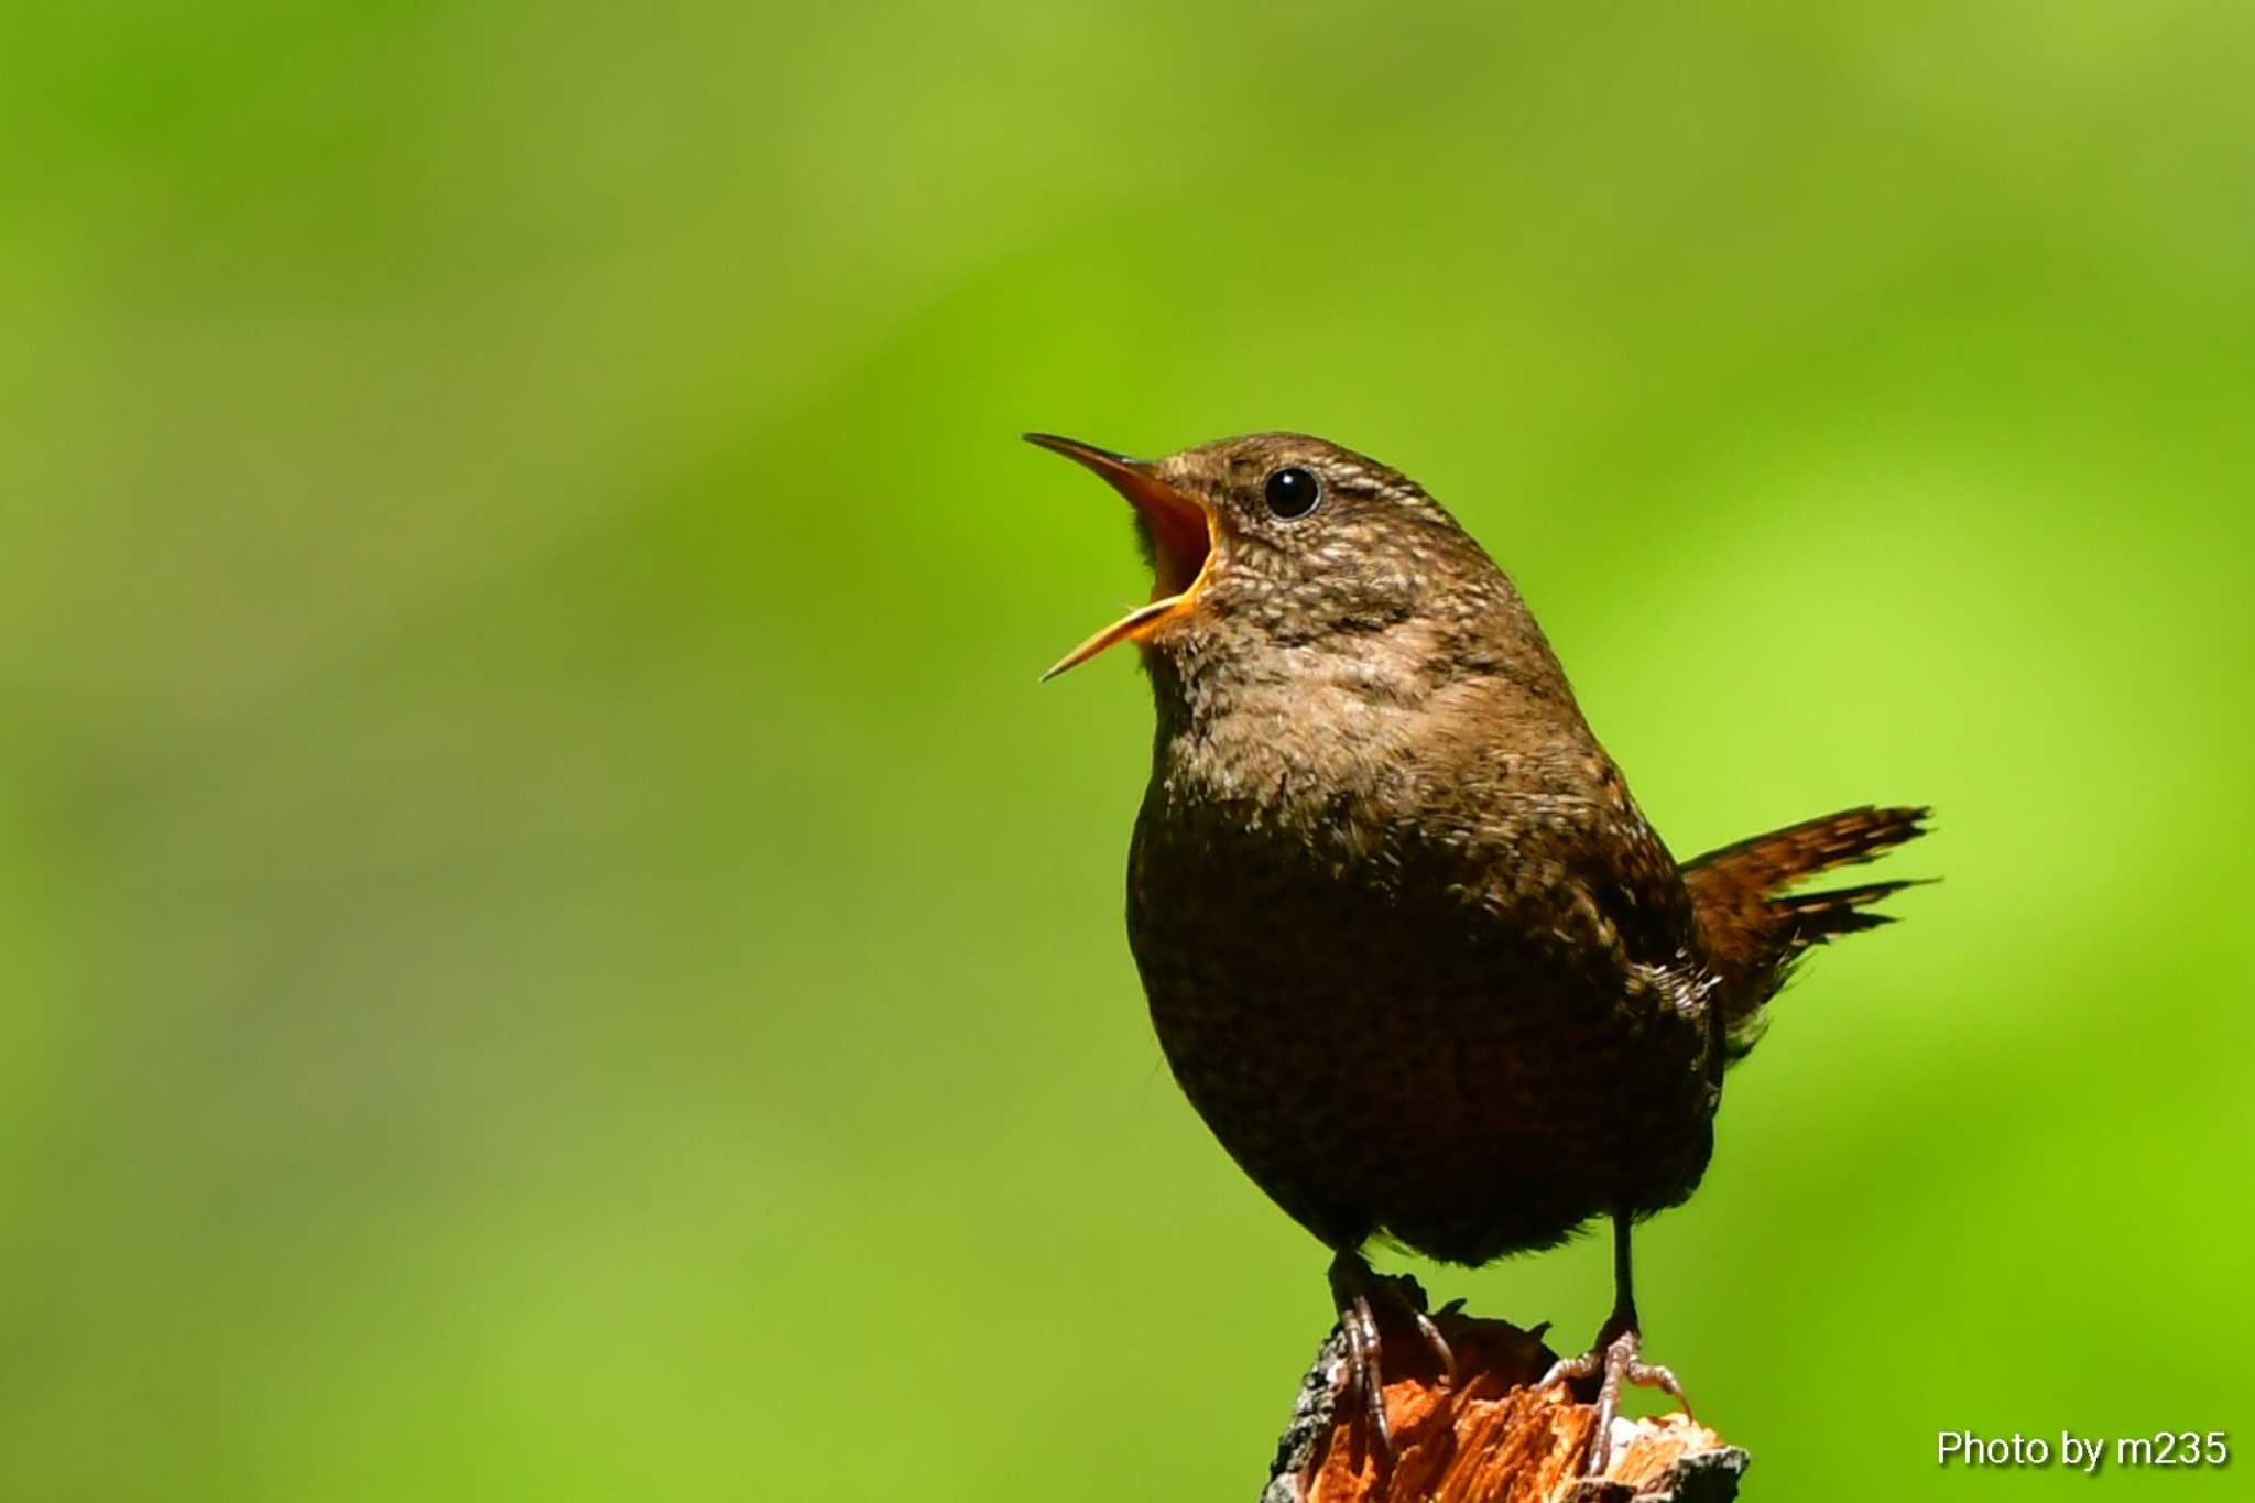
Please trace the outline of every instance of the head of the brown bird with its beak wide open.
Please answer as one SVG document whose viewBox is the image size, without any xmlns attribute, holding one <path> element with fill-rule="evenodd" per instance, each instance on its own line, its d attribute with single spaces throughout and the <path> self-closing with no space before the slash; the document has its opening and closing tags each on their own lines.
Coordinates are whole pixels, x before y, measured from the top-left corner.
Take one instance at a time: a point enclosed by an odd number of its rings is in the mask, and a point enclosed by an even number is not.
<svg viewBox="0 0 2255 1503">
<path fill-rule="evenodd" d="M 1152 597 L 1044 674 L 1116 642 L 1193 656 L 1324 647 L 1407 622 L 1493 620 L 1515 595 L 1479 545 L 1398 471 L 1303 433 L 1254 433 L 1130 460 L 1051 433 L 1026 442 L 1103 475 L 1134 507 Z"/>
</svg>

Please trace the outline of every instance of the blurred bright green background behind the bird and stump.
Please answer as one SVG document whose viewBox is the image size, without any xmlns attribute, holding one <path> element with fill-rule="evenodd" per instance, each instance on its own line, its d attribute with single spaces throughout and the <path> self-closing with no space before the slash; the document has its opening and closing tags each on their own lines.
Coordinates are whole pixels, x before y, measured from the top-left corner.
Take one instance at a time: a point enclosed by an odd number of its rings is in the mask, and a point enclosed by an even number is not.
<svg viewBox="0 0 2255 1503">
<path fill-rule="evenodd" d="M 1935 1435 L 2255 1444 L 2250 43 L 9 7 L 0 1494 L 1249 1498 L 1321 1253 L 1159 1064 L 1146 692 L 1035 687 L 1146 584 L 1015 433 L 1297 426 L 1680 852 L 1942 811 L 1642 1242 L 1748 1496 L 2226 1496 Z"/>
</svg>

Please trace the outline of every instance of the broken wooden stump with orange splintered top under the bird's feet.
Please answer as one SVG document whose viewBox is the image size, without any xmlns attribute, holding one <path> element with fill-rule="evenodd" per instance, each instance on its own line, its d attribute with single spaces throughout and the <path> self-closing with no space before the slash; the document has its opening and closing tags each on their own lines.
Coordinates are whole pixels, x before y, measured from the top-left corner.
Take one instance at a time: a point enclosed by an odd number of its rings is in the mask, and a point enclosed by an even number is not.
<svg viewBox="0 0 2255 1503">
<path fill-rule="evenodd" d="M 1739 1496 L 1745 1451 L 1680 1413 L 1615 1420 L 1606 1476 L 1583 1478 L 1597 1406 L 1576 1402 L 1563 1386 L 1533 1388 L 1556 1359 L 1542 1345 L 1542 1327 L 1522 1332 L 1454 1309 L 1436 1314 L 1434 1323 L 1457 1354 L 1457 1381 L 1448 1388 L 1414 1329 L 1403 1323 L 1385 1332 L 1394 1465 L 1371 1453 L 1360 1397 L 1342 1402 L 1346 1339 L 1333 1329 L 1301 1379 L 1261 1503 L 1727 1503 Z"/>
</svg>

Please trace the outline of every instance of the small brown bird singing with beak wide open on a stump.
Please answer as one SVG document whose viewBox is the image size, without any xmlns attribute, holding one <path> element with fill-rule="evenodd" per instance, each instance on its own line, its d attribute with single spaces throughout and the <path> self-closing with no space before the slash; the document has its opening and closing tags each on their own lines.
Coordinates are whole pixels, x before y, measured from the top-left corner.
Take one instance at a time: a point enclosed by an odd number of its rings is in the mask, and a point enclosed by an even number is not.
<svg viewBox="0 0 2255 1503">
<path fill-rule="evenodd" d="M 1597 1379 L 1601 1474 L 1644 1359 L 1637 1221 L 1714 1151 L 1725 1068 L 1818 944 L 1912 886 L 1811 877 L 1928 829 L 1860 804 L 1675 861 L 1511 577 L 1400 471 L 1303 433 L 1134 460 L 1026 442 L 1118 491 L 1152 595 L 1044 674 L 1134 642 L 1157 710 L 1128 940 L 1161 1052 L 1238 1167 L 1328 1251 L 1391 1456 L 1373 1244 L 1482 1266 L 1610 1221 L 1615 1300 L 1545 1386 Z"/>
</svg>

